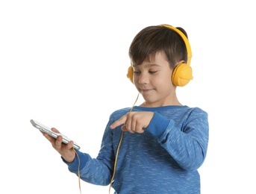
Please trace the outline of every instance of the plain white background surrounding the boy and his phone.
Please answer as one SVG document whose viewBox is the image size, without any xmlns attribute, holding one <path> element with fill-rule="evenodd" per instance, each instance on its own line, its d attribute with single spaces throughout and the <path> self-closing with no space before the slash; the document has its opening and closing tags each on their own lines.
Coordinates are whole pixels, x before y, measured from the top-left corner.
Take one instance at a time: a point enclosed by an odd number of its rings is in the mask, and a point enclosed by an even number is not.
<svg viewBox="0 0 256 194">
<path fill-rule="evenodd" d="M 202 194 L 256 193 L 255 18 L 249 0 L 0 1 L 0 193 L 79 193 L 30 119 L 96 157 L 110 113 L 137 97 L 128 47 L 160 24 L 187 31 L 194 79 L 178 98 L 209 114 Z M 81 190 L 108 193 L 83 181 Z"/>
</svg>

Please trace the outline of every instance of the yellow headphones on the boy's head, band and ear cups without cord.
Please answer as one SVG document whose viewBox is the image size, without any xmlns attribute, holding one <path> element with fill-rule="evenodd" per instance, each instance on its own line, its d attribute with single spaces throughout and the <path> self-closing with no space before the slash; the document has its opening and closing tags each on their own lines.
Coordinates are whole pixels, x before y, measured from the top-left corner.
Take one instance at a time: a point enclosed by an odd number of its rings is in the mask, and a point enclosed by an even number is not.
<svg viewBox="0 0 256 194">
<path fill-rule="evenodd" d="M 186 45 L 187 63 L 178 64 L 177 66 L 175 66 L 175 69 L 173 69 L 173 72 L 172 72 L 172 84 L 178 87 L 184 87 L 190 82 L 190 80 L 193 79 L 192 68 L 190 66 L 190 61 L 192 57 L 190 43 L 188 42 L 187 37 L 183 34 L 183 32 L 178 30 L 177 28 L 174 28 L 171 25 L 160 25 L 160 26 L 163 26 L 171 29 L 172 31 L 175 31 L 177 34 L 181 36 L 181 38 L 184 40 L 184 43 Z M 127 78 L 129 78 L 132 83 L 134 83 L 133 77 L 134 77 L 134 69 L 132 66 L 130 66 L 128 68 Z"/>
</svg>

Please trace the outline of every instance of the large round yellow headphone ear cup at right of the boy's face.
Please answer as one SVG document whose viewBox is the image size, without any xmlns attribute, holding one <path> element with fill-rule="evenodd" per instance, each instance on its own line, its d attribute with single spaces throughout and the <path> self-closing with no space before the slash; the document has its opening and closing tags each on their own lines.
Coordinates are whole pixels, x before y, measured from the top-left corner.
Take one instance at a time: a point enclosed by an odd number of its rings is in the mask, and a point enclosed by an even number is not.
<svg viewBox="0 0 256 194">
<path fill-rule="evenodd" d="M 184 87 L 193 79 L 192 68 L 186 63 L 178 64 L 172 72 L 172 84 L 177 87 Z"/>
</svg>

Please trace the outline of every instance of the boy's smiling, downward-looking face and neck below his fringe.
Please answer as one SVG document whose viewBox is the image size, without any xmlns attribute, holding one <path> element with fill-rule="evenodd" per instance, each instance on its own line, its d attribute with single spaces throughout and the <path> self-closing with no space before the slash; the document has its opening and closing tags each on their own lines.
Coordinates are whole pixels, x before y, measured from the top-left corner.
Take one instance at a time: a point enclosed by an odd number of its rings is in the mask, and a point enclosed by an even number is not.
<svg viewBox="0 0 256 194">
<path fill-rule="evenodd" d="M 145 99 L 143 106 L 180 105 L 172 84 L 172 69 L 163 52 L 157 52 L 151 61 L 134 66 L 134 85 Z"/>
</svg>

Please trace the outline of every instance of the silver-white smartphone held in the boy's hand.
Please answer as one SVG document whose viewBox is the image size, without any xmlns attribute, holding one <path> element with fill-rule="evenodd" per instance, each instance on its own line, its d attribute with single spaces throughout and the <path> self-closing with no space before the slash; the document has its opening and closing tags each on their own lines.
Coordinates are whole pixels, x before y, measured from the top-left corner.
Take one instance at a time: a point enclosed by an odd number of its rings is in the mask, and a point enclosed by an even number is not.
<svg viewBox="0 0 256 194">
<path fill-rule="evenodd" d="M 70 139 L 69 137 L 66 137 L 65 135 L 63 134 L 60 134 L 60 133 L 56 133 L 54 131 L 51 131 L 51 128 L 49 127 L 46 127 L 45 125 L 41 124 L 40 122 L 37 122 L 35 121 L 34 119 L 31 119 L 30 120 L 31 124 L 35 127 L 35 128 L 38 128 L 40 131 L 42 131 L 43 133 L 46 133 L 46 134 L 49 134 L 51 137 L 54 137 L 55 139 L 61 135 L 62 136 L 62 142 L 67 144 L 69 143 Z M 79 150 L 80 149 L 80 146 L 74 142 L 74 145 L 73 145 L 73 148 Z"/>
</svg>

